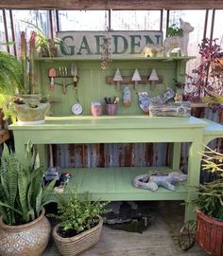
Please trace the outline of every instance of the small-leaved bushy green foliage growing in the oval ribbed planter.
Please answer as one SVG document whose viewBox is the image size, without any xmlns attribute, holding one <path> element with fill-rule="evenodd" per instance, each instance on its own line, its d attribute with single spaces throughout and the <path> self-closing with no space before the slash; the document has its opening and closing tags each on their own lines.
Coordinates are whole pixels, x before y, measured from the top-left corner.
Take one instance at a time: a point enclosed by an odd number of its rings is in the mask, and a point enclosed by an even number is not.
<svg viewBox="0 0 223 256">
<path fill-rule="evenodd" d="M 66 195 L 57 194 L 59 215 L 50 214 L 60 220 L 58 232 L 62 237 L 72 237 L 98 223 L 98 215 L 107 212 L 108 202 L 92 201 L 89 193 L 79 197 L 77 189 Z"/>
</svg>

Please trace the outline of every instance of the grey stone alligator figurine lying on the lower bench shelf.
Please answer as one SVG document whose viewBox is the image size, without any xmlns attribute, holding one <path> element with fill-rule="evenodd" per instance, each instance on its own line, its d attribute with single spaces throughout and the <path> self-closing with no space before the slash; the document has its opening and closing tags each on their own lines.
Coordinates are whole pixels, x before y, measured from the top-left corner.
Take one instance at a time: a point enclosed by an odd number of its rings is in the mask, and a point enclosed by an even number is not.
<svg viewBox="0 0 223 256">
<path fill-rule="evenodd" d="M 174 184 L 187 180 L 186 174 L 178 172 L 171 172 L 169 174 L 162 174 L 155 172 L 152 174 L 141 174 L 133 179 L 133 186 L 138 189 L 149 190 L 155 192 L 159 187 L 163 187 L 170 191 L 175 191 Z"/>
</svg>

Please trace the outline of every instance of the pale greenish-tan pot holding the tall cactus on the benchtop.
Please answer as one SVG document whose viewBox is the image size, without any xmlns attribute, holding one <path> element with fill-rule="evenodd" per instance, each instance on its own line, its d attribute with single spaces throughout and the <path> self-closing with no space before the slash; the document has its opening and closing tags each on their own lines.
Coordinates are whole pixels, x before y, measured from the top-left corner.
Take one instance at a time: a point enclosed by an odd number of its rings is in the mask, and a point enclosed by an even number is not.
<svg viewBox="0 0 223 256">
<path fill-rule="evenodd" d="M 14 103 L 15 113 L 21 124 L 38 124 L 44 122 L 44 117 L 49 111 L 50 103 L 38 103 L 35 108 L 30 107 L 28 104 Z"/>
</svg>

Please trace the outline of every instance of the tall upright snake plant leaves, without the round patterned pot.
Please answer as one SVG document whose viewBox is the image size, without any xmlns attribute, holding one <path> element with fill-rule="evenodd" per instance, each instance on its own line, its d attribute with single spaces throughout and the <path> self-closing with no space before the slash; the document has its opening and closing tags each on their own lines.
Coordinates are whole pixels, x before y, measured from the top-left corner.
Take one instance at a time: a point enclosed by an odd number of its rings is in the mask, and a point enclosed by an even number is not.
<svg viewBox="0 0 223 256">
<path fill-rule="evenodd" d="M 36 165 L 37 152 L 30 143 L 23 162 L 15 154 L 1 158 L 0 214 L 4 223 L 26 224 L 40 216 L 44 205 L 55 201 L 55 181 L 43 187 L 43 167 Z"/>
</svg>

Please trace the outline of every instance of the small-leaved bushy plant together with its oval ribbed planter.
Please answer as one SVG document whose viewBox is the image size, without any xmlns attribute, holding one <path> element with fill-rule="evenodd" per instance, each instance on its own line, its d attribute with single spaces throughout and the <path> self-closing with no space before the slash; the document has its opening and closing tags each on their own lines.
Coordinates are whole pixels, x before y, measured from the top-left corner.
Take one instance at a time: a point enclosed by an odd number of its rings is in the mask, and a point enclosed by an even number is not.
<svg viewBox="0 0 223 256">
<path fill-rule="evenodd" d="M 75 256 L 93 247 L 100 238 L 107 202 L 91 201 L 89 194 L 77 195 L 77 190 L 65 195 L 57 194 L 60 220 L 53 229 L 53 238 L 63 256 Z"/>
</svg>

